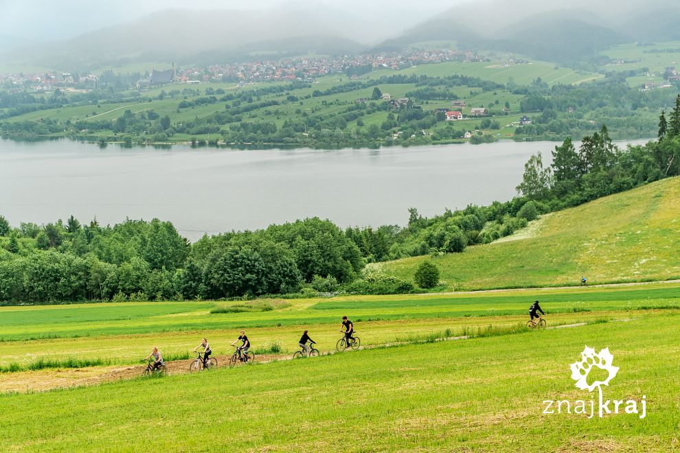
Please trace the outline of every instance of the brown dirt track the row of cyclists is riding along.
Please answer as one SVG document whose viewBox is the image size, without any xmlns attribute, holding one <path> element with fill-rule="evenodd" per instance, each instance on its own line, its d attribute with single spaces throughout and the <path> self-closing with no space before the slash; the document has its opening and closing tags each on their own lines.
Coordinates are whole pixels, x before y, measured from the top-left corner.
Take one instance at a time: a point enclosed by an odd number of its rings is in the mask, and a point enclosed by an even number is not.
<svg viewBox="0 0 680 453">
<path fill-rule="evenodd" d="M 617 319 L 613 321 L 630 321 L 628 319 Z M 565 329 L 582 327 L 587 323 L 564 324 L 547 327 L 547 329 Z M 469 336 L 452 336 L 446 338 L 436 338 L 435 342 L 466 340 Z M 359 349 L 381 349 L 387 347 L 397 347 L 409 345 L 412 342 L 387 342 L 378 345 L 367 345 Z M 331 355 L 336 351 L 324 351 L 322 355 Z M 218 362 L 218 368 L 227 367 L 229 356 L 214 356 Z M 291 360 L 292 353 L 286 354 L 264 354 L 256 356 L 255 363 L 268 363 L 275 360 Z M 166 362 L 169 375 L 179 375 L 189 373 L 190 364 L 195 359 L 173 360 Z M 237 367 L 247 366 L 238 363 Z M 119 380 L 134 379 L 140 377 L 146 369 L 146 364 L 139 365 L 118 365 L 113 367 L 89 367 L 78 369 L 43 369 L 39 371 L 20 371 L 16 373 L 0 374 L 0 393 L 30 393 L 54 390 L 56 388 L 72 388 L 80 386 L 90 386 L 115 382 Z M 201 371 L 203 373 L 204 371 Z M 205 371 L 209 373 L 209 371 Z"/>
</svg>

